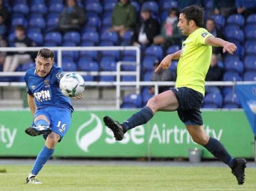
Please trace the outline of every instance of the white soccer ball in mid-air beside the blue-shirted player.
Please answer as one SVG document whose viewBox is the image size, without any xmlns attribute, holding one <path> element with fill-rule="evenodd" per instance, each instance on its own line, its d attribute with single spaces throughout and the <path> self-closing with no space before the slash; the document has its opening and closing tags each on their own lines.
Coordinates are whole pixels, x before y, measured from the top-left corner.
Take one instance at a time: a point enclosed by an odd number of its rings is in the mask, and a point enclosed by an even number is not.
<svg viewBox="0 0 256 191">
<path fill-rule="evenodd" d="M 64 74 L 60 80 L 60 89 L 67 97 L 76 97 L 84 91 L 84 79 L 81 75 L 71 72 Z"/>
</svg>

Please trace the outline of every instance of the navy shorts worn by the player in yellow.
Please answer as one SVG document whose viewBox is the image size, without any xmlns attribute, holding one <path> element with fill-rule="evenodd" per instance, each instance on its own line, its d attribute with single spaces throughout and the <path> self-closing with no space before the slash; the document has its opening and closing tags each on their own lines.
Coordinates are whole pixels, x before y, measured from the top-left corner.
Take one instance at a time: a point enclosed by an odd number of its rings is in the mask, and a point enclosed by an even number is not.
<svg viewBox="0 0 256 191">
<path fill-rule="evenodd" d="M 180 120 L 185 125 L 203 125 L 200 107 L 204 100 L 204 95 L 188 87 L 171 87 L 179 106 L 177 112 Z"/>
</svg>

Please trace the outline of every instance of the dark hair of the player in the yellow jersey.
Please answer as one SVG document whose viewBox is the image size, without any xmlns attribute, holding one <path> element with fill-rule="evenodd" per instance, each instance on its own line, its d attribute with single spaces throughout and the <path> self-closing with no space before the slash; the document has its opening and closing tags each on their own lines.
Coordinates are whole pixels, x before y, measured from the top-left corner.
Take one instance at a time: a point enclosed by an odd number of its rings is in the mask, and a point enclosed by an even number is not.
<svg viewBox="0 0 256 191">
<path fill-rule="evenodd" d="M 202 7 L 192 5 L 182 9 L 181 13 L 184 14 L 187 23 L 193 20 L 197 27 L 204 27 L 204 9 Z"/>
</svg>

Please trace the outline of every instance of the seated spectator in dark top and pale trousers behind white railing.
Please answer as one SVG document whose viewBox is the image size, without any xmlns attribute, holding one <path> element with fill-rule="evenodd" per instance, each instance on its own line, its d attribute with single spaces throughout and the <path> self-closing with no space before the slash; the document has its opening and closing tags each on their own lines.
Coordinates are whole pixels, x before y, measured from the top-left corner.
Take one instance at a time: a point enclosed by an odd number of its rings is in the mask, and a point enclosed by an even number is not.
<svg viewBox="0 0 256 191">
<path fill-rule="evenodd" d="M 14 45 L 16 47 L 29 47 L 29 46 L 37 46 L 35 42 L 33 42 L 29 37 L 25 35 L 25 29 L 23 25 L 15 26 L 15 39 Z M 7 55 L 5 58 L 4 69 L 3 71 L 15 71 L 19 64 L 24 64 L 27 62 L 31 62 L 32 58 L 35 55 L 33 52 L 24 52 L 19 51 L 12 53 L 12 55 Z"/>
</svg>

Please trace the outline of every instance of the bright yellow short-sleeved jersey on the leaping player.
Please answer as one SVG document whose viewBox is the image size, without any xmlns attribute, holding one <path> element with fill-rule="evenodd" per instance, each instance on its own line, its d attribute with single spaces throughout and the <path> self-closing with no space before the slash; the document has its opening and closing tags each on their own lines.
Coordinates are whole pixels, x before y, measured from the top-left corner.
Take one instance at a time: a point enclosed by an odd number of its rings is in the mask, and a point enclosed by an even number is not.
<svg viewBox="0 0 256 191">
<path fill-rule="evenodd" d="M 205 76 L 212 58 L 212 46 L 206 45 L 205 39 L 210 36 L 213 35 L 206 29 L 199 28 L 182 43 L 175 87 L 189 87 L 204 95 Z"/>
</svg>

